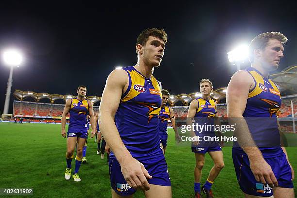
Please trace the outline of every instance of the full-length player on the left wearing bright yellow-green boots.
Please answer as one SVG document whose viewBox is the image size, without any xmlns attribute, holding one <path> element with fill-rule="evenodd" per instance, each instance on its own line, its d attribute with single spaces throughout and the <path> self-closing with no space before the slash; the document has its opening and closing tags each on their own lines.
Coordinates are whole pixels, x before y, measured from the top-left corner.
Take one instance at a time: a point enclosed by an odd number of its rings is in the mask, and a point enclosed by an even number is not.
<svg viewBox="0 0 297 198">
<path fill-rule="evenodd" d="M 66 116 L 70 112 L 70 124 L 67 132 L 67 152 L 66 152 L 66 162 L 67 168 L 65 172 L 65 179 L 69 180 L 71 177 L 71 161 L 73 159 L 74 149 L 76 148 L 76 157 L 75 157 L 75 170 L 74 175 L 72 176 L 74 181 L 81 181 L 78 171 L 82 162 L 82 148 L 85 145 L 86 139 L 88 137 L 87 130 L 87 115 L 90 115 L 92 133 L 91 138 L 95 135 L 95 118 L 93 113 L 92 102 L 88 99 L 85 99 L 86 87 L 79 86 L 77 88 L 77 98 L 68 99 L 66 101 L 62 119 L 61 119 L 61 135 L 66 138 L 65 125 L 66 125 Z"/>
</svg>

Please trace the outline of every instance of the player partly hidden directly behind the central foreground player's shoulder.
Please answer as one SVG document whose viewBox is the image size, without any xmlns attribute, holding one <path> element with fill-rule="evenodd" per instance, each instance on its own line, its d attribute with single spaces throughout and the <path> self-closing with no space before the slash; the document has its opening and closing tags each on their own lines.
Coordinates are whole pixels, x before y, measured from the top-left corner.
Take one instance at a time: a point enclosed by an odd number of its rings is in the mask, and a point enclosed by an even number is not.
<svg viewBox="0 0 297 198">
<path fill-rule="evenodd" d="M 170 119 L 172 128 L 175 132 L 175 140 L 181 141 L 181 137 L 176 129 L 175 126 L 175 117 L 174 117 L 174 111 L 172 107 L 169 107 L 167 105 L 167 101 L 169 99 L 169 91 L 163 89 L 162 90 L 162 106 L 161 110 L 159 112 L 159 134 L 160 134 L 160 140 L 163 146 L 163 151 L 165 154 L 166 147 L 167 147 L 167 140 L 168 140 L 168 132 L 167 132 L 167 126 L 168 126 L 168 120 Z"/>
</svg>

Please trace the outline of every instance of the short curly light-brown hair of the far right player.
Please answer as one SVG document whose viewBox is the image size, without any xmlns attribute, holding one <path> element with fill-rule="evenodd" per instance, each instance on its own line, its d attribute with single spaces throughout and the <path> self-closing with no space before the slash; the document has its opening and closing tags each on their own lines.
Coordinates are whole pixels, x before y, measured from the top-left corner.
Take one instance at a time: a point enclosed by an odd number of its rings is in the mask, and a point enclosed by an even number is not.
<svg viewBox="0 0 297 198">
<path fill-rule="evenodd" d="M 249 60 L 252 63 L 254 61 L 254 50 L 264 50 L 269 42 L 269 39 L 277 39 L 282 44 L 288 41 L 287 37 L 280 32 L 267 32 L 256 36 L 249 44 Z"/>
</svg>

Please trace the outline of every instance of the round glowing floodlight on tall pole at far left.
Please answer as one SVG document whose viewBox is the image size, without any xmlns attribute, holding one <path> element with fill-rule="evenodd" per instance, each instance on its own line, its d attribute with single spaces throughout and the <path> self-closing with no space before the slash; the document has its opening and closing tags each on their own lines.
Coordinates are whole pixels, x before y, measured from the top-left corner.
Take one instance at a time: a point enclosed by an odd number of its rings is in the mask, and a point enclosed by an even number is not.
<svg viewBox="0 0 297 198">
<path fill-rule="evenodd" d="M 23 62 L 23 56 L 20 53 L 20 51 L 18 51 L 17 49 L 7 49 L 3 52 L 2 59 L 5 65 L 10 66 L 9 79 L 7 82 L 6 98 L 5 98 L 4 111 L 3 111 L 3 114 L 8 114 L 14 66 L 19 66 Z"/>
</svg>

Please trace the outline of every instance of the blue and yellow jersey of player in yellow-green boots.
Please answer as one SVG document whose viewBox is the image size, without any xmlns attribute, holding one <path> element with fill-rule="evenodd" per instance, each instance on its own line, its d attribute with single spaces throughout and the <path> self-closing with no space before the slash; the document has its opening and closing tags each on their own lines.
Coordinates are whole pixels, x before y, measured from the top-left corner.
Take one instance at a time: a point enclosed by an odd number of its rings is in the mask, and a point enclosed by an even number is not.
<svg viewBox="0 0 297 198">
<path fill-rule="evenodd" d="M 71 99 L 69 128 L 87 128 L 88 99 Z"/>
</svg>

